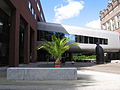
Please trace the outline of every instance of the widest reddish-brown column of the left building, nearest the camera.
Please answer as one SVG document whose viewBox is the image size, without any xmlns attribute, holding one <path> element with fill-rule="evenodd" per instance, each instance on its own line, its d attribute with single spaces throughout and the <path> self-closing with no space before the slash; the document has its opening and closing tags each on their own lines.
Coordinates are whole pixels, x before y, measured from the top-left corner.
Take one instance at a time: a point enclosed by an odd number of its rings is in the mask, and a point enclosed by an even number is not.
<svg viewBox="0 0 120 90">
<path fill-rule="evenodd" d="M 9 66 L 19 65 L 19 11 L 13 10 L 11 13 L 10 45 L 9 45 Z"/>
</svg>

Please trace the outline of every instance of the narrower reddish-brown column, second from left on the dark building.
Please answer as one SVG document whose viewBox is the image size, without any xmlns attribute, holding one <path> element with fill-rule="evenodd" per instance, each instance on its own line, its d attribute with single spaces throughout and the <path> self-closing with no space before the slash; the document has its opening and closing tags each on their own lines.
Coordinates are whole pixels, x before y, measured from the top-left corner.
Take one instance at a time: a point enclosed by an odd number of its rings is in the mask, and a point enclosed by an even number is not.
<svg viewBox="0 0 120 90">
<path fill-rule="evenodd" d="M 30 25 L 26 26 L 24 31 L 24 63 L 29 64 L 30 62 Z"/>
</svg>

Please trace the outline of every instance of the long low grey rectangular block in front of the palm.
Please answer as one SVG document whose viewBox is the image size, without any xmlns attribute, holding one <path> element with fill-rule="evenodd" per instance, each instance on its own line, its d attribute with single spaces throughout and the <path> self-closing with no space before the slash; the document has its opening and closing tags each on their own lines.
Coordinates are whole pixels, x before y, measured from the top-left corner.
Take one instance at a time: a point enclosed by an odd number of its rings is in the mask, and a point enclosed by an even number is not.
<svg viewBox="0 0 120 90">
<path fill-rule="evenodd" d="M 8 68 L 7 80 L 76 80 L 77 68 Z"/>
</svg>

